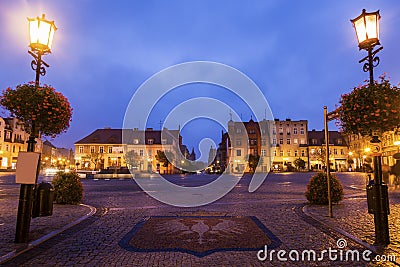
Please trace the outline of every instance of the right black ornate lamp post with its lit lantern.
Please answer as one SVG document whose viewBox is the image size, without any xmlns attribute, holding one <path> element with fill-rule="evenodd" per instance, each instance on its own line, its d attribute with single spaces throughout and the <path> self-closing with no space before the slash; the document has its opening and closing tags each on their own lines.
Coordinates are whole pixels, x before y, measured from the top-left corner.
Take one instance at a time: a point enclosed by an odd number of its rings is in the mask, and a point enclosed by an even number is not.
<svg viewBox="0 0 400 267">
<path fill-rule="evenodd" d="M 364 72 L 369 72 L 370 86 L 374 84 L 374 67 L 379 65 L 380 59 L 376 54 L 383 49 L 379 42 L 379 10 L 375 12 L 366 12 L 363 9 L 361 15 L 352 19 L 351 22 L 355 28 L 360 50 L 364 49 L 368 55 L 362 58 L 359 63 L 365 62 L 363 65 Z M 379 46 L 375 51 L 375 46 Z M 378 136 L 373 136 L 371 146 L 374 157 L 374 185 L 371 193 L 373 194 L 373 212 L 375 223 L 375 244 L 388 245 L 389 240 L 389 224 L 388 224 L 388 193 L 387 185 L 382 183 L 382 153 L 380 149 L 381 141 Z M 368 190 L 367 190 L 368 192 Z"/>
</svg>

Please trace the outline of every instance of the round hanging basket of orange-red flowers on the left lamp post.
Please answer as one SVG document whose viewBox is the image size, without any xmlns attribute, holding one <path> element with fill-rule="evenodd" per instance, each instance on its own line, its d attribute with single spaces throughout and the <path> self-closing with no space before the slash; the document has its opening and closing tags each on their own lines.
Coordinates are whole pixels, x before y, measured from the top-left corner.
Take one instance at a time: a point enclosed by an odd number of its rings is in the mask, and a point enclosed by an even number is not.
<svg viewBox="0 0 400 267">
<path fill-rule="evenodd" d="M 0 105 L 25 123 L 27 131 L 54 137 L 70 125 L 72 108 L 68 99 L 49 85 L 21 84 L 3 90 Z"/>
</svg>

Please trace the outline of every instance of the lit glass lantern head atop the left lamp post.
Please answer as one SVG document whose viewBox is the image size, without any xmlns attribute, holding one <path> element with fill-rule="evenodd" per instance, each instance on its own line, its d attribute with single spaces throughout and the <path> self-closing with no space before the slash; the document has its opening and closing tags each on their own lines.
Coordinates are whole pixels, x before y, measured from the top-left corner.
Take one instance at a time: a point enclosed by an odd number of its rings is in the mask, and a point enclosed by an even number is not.
<svg viewBox="0 0 400 267">
<path fill-rule="evenodd" d="M 54 21 L 45 19 L 44 14 L 41 18 L 28 18 L 29 21 L 29 46 L 33 51 L 43 54 L 51 52 L 54 32 L 57 30 Z"/>
</svg>

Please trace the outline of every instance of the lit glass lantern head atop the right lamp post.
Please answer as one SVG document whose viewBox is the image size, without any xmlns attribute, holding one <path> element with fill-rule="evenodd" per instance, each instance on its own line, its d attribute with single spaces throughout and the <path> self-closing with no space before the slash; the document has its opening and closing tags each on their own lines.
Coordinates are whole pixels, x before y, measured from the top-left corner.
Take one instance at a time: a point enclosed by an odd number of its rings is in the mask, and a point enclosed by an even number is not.
<svg viewBox="0 0 400 267">
<path fill-rule="evenodd" d="M 351 20 L 356 30 L 360 49 L 369 49 L 379 43 L 379 10 L 367 13 L 365 9 L 360 16 Z"/>
</svg>

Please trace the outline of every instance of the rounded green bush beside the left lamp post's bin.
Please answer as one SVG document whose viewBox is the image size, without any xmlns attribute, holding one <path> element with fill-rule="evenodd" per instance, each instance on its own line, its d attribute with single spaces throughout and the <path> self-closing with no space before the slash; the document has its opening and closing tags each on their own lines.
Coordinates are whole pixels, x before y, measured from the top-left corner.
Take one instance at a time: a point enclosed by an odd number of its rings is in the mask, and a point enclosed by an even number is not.
<svg viewBox="0 0 400 267">
<path fill-rule="evenodd" d="M 75 172 L 58 172 L 53 179 L 57 204 L 79 204 L 83 198 L 81 179 Z"/>
</svg>

